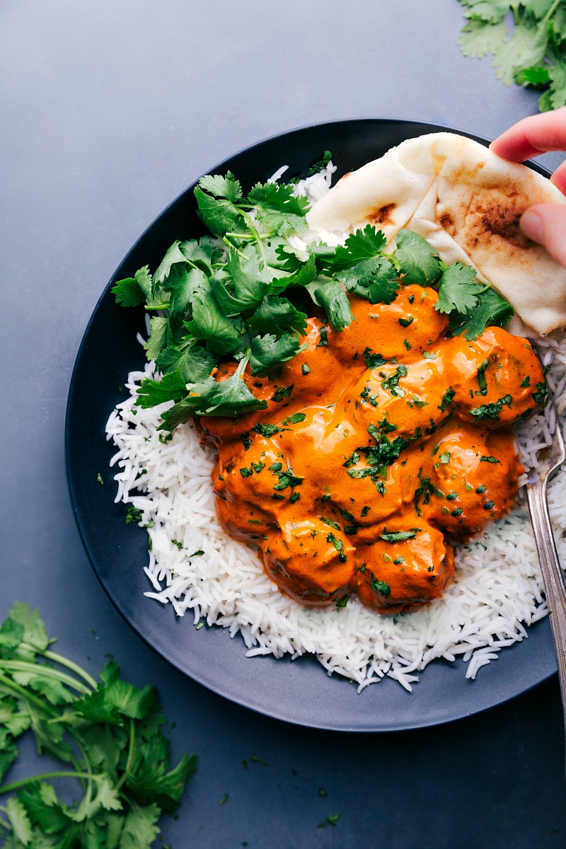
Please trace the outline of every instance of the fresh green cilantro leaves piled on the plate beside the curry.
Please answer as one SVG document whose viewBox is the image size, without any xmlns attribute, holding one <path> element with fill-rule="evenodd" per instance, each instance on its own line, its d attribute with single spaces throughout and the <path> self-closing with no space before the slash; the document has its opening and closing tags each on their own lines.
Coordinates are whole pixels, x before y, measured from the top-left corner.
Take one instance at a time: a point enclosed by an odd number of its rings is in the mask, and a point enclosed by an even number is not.
<svg viewBox="0 0 566 849">
<path fill-rule="evenodd" d="M 446 266 L 409 230 L 397 234 L 390 254 L 384 233 L 369 224 L 344 245 L 298 249 L 289 237 L 308 229 L 308 201 L 291 184 L 257 183 L 244 196 L 228 172 L 202 177 L 194 196 L 213 235 L 174 242 L 153 275 L 143 267 L 112 289 L 121 306 L 144 303 L 154 312 L 145 349 L 161 380 L 143 380 L 137 404 L 174 402 L 162 413 L 161 429 L 174 430 L 195 414 L 266 409 L 246 385 L 244 369 L 249 364 L 254 376 L 277 374 L 304 350 L 307 312 L 318 310 L 335 332 L 345 329 L 352 321 L 348 293 L 389 304 L 401 284 L 435 286 L 437 309 L 450 313 L 451 332 L 468 339 L 513 315 L 507 301 L 474 281 L 472 268 Z M 326 328 L 321 336 L 327 344 Z M 227 360 L 237 368 L 216 380 Z"/>
</svg>

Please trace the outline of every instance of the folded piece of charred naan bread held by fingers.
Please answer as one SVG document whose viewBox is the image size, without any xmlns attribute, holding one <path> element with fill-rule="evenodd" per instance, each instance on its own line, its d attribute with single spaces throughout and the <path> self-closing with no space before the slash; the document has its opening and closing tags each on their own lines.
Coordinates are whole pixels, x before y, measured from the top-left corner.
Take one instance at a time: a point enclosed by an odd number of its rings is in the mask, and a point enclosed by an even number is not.
<svg viewBox="0 0 566 849">
<path fill-rule="evenodd" d="M 472 265 L 528 328 L 546 335 L 566 329 L 566 269 L 518 227 L 522 213 L 540 203 L 566 198 L 530 168 L 470 138 L 438 132 L 410 138 L 345 174 L 307 220 L 321 239 L 373 224 L 384 231 L 388 250 L 402 228 L 414 230 L 446 262 Z M 513 330 L 524 332 L 517 322 Z"/>
</svg>

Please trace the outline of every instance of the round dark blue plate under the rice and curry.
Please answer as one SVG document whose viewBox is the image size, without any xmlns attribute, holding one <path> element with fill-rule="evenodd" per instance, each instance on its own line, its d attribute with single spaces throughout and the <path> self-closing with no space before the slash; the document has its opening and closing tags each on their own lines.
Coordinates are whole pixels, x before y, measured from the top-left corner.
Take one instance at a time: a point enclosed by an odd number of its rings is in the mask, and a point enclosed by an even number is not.
<svg viewBox="0 0 566 849">
<path fill-rule="evenodd" d="M 268 138 L 210 171 L 229 169 L 249 190 L 283 164 L 289 165 L 285 178 L 304 175 L 329 149 L 338 179 L 406 138 L 447 130 L 417 121 L 336 121 Z M 547 176 L 543 169 L 535 170 Z M 503 649 L 476 681 L 466 680 L 462 661 L 434 661 L 420 673 L 412 694 L 386 678 L 358 695 L 345 678 L 328 678 L 314 658 L 246 658 L 241 638 L 230 639 L 220 627 L 197 631 L 192 616 L 179 619 L 171 604 L 144 599 L 143 592 L 151 589 L 143 572 L 147 533 L 126 526 L 125 505 L 114 503 L 109 459 L 115 449 L 106 441 L 104 425 L 125 397 L 119 387 L 128 372 L 143 366 L 136 334 L 145 333 L 145 325 L 142 309 L 115 306 L 110 286 L 143 265 L 157 267 L 175 239 L 205 233 L 195 213 L 193 188 L 161 213 L 116 270 L 92 313 L 70 382 L 65 433 L 70 497 L 92 567 L 117 610 L 152 649 L 205 687 L 267 716 L 314 728 L 397 731 L 450 722 L 512 699 L 551 676 L 557 662 L 544 620 L 530 629 L 529 639 Z M 98 473 L 104 486 L 97 482 Z"/>
</svg>

